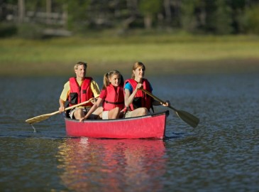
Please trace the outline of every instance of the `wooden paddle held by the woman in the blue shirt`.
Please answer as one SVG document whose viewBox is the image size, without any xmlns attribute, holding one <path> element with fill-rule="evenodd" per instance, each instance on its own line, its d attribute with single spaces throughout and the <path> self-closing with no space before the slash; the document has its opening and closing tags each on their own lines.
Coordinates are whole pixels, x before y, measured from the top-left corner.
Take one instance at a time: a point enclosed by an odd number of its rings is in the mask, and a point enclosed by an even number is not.
<svg viewBox="0 0 259 192">
<path fill-rule="evenodd" d="M 153 95 L 151 92 L 148 92 L 147 90 L 143 90 L 142 88 L 140 88 L 140 90 L 142 90 L 146 94 L 150 95 L 150 97 L 153 97 L 155 100 L 158 100 L 162 104 L 166 104 L 166 102 L 160 100 L 158 97 L 155 97 L 155 95 Z M 197 127 L 197 125 L 199 124 L 199 118 L 195 117 L 193 114 L 190 114 L 189 112 L 184 112 L 182 110 L 177 110 L 170 105 L 168 107 L 170 109 L 174 110 L 176 112 L 177 116 L 180 117 L 184 122 L 186 122 L 190 126 Z"/>
</svg>

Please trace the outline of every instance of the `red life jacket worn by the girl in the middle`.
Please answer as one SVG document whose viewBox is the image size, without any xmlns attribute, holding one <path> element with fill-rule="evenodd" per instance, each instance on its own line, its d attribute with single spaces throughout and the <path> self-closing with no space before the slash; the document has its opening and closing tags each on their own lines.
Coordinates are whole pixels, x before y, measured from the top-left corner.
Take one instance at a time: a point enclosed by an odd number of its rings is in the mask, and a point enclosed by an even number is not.
<svg viewBox="0 0 259 192">
<path fill-rule="evenodd" d="M 119 87 L 114 87 L 111 84 L 107 86 L 106 97 L 104 98 L 102 107 L 104 107 L 104 111 L 112 110 L 115 107 L 119 107 L 120 110 L 123 110 L 124 108 L 123 86 L 119 85 Z"/>
</svg>

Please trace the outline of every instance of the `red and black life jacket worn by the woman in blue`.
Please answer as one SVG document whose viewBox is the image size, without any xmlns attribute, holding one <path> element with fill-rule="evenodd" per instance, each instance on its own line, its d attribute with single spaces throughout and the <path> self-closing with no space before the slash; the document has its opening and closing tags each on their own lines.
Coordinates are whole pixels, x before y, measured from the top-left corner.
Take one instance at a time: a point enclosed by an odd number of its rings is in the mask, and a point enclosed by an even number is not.
<svg viewBox="0 0 259 192">
<path fill-rule="evenodd" d="M 138 82 L 136 82 L 136 80 L 128 79 L 125 81 L 124 86 L 126 85 L 127 82 L 131 84 L 131 86 L 133 87 L 133 90 L 136 90 L 136 87 L 138 85 Z M 144 78 L 142 79 L 142 85 L 144 90 L 151 92 L 150 82 L 148 82 L 147 79 L 144 79 Z M 153 109 L 152 97 L 145 94 L 145 92 L 141 90 L 138 90 L 136 92 L 134 100 L 130 105 L 131 110 L 136 110 L 139 107 L 146 107 L 148 111 L 150 111 L 150 108 Z"/>
</svg>

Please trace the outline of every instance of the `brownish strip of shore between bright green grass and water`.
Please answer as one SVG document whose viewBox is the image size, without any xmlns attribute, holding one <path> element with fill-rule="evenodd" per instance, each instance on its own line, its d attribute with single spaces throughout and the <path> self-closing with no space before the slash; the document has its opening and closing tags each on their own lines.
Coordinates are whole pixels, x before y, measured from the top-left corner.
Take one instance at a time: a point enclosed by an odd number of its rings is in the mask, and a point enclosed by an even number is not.
<svg viewBox="0 0 259 192">
<path fill-rule="evenodd" d="M 214 73 L 259 73 L 259 59 L 210 60 L 210 61 L 143 61 L 147 75 L 183 75 Z M 87 74 L 104 75 L 109 70 L 130 74 L 133 63 L 89 63 Z M 0 65 L 1 77 L 67 76 L 74 75 L 74 64 L 40 63 L 38 65 Z"/>
</svg>

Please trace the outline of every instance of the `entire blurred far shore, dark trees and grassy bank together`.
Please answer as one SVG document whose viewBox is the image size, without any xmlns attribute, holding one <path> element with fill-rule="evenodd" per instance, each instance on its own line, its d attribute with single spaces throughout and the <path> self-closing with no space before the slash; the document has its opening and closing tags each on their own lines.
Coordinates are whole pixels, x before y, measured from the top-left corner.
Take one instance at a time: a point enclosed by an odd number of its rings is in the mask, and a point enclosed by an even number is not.
<svg viewBox="0 0 259 192">
<path fill-rule="evenodd" d="M 258 71 L 258 35 L 259 0 L 0 0 L 0 75 Z"/>
</svg>

